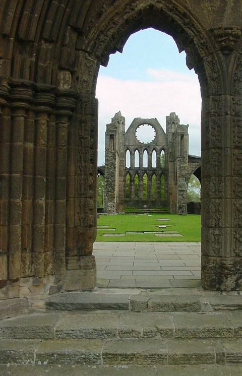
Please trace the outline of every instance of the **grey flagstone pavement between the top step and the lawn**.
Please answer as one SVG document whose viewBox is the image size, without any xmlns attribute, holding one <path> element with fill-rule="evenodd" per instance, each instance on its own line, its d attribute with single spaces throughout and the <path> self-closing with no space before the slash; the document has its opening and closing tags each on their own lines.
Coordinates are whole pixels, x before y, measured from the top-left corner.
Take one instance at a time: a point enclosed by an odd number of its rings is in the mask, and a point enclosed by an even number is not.
<svg viewBox="0 0 242 376">
<path fill-rule="evenodd" d="M 200 242 L 95 242 L 97 287 L 200 287 Z"/>
</svg>

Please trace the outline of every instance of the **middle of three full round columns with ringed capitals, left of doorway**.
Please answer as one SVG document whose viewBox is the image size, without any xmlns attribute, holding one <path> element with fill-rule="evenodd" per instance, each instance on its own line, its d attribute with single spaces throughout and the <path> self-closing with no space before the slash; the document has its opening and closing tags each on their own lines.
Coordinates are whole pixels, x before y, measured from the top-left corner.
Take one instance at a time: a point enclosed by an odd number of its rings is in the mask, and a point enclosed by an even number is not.
<svg viewBox="0 0 242 376">
<path fill-rule="evenodd" d="M 55 104 L 55 97 L 53 94 L 53 88 L 48 85 L 38 85 L 35 92 L 35 133 L 34 140 L 31 129 L 29 137 L 29 160 L 34 161 L 34 186 L 33 186 L 33 218 L 32 223 L 29 220 L 26 223 L 27 229 L 33 228 L 32 238 L 32 251 L 33 251 L 33 272 L 35 277 L 43 277 L 46 275 L 46 271 L 52 272 L 53 264 L 53 239 L 50 230 L 50 226 L 53 226 L 53 217 L 49 201 L 50 189 L 50 176 L 53 171 L 50 171 L 49 163 L 49 116 L 53 111 Z M 30 146 L 34 142 L 34 151 Z M 27 184 L 29 191 L 31 187 L 31 169 L 32 166 L 28 166 L 29 171 L 26 171 L 26 178 L 28 177 Z M 28 192 L 28 190 L 26 191 Z M 26 201 L 30 201 L 30 195 L 26 197 Z M 30 208 L 29 208 L 30 210 Z"/>
</svg>

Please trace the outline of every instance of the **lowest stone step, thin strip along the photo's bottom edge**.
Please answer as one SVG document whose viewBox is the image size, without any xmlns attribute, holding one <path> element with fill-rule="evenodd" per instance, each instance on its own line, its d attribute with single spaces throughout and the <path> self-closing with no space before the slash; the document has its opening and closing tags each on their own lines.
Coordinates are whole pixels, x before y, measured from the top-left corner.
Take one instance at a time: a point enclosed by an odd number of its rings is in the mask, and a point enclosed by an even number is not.
<svg viewBox="0 0 242 376">
<path fill-rule="evenodd" d="M 0 365 L 1 376 L 241 376 L 241 365 Z"/>
</svg>

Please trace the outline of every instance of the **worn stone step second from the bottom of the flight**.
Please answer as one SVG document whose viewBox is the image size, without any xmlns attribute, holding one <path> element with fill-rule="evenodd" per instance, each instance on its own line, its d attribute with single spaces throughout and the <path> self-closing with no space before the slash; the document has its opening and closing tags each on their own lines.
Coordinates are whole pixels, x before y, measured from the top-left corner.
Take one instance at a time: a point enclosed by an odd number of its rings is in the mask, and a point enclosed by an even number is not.
<svg viewBox="0 0 242 376">
<path fill-rule="evenodd" d="M 96 367 L 104 365 L 241 365 L 242 341 L 241 339 L 226 338 L 219 340 L 6 339 L 1 340 L 0 364 L 89 365 Z M 212 375 L 214 376 L 213 373 Z"/>
</svg>

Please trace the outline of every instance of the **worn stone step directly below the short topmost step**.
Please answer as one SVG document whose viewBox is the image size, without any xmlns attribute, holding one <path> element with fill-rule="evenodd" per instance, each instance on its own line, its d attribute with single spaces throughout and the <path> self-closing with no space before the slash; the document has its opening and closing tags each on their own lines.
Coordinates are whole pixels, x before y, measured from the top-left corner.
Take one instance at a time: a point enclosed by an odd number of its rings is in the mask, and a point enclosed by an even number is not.
<svg viewBox="0 0 242 376">
<path fill-rule="evenodd" d="M 79 311 L 22 315 L 0 322 L 0 339 L 242 338 L 242 311 Z"/>
</svg>

